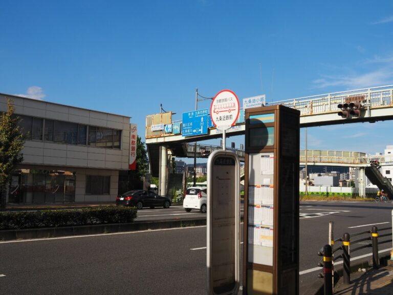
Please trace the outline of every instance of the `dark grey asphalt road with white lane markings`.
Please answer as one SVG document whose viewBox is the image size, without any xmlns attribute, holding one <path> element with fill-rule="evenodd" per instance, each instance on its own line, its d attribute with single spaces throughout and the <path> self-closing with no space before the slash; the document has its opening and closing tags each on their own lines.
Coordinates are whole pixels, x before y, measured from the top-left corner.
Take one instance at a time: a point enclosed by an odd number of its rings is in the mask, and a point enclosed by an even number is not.
<svg viewBox="0 0 393 295">
<path fill-rule="evenodd" d="M 300 294 L 319 280 L 317 251 L 328 243 L 330 220 L 338 238 L 372 224 L 391 226 L 392 209 L 391 203 L 301 203 Z M 184 213 L 181 207 L 143 209 L 137 220 L 202 215 L 172 215 Z M 205 247 L 206 227 L 0 242 L 0 294 L 204 294 Z M 380 250 L 388 254 L 390 247 Z"/>
</svg>

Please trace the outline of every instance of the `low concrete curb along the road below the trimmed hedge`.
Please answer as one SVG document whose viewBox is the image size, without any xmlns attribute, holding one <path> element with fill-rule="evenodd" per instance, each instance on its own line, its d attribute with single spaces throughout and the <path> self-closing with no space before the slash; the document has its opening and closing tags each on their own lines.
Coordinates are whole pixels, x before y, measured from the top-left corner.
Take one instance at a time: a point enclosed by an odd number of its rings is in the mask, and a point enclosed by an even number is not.
<svg viewBox="0 0 393 295">
<path fill-rule="evenodd" d="M 124 231 L 138 231 L 148 229 L 164 229 L 175 227 L 191 227 L 206 225 L 206 219 L 164 220 L 164 221 L 136 221 L 133 223 L 97 224 L 64 227 L 45 227 L 31 229 L 0 230 L 0 241 L 20 239 L 55 238 L 80 235 L 97 235 L 121 233 Z"/>
</svg>

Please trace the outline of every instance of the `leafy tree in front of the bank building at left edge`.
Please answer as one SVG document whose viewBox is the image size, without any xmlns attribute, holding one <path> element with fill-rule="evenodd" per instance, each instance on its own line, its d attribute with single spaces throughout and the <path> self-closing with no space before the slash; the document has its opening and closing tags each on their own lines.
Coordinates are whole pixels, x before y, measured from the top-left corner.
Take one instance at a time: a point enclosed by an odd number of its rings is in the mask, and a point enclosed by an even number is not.
<svg viewBox="0 0 393 295">
<path fill-rule="evenodd" d="M 7 98 L 7 112 L 0 115 L 0 209 L 6 208 L 6 187 L 11 180 L 15 166 L 23 161 L 21 151 L 24 147 L 24 136 L 14 115 L 13 100 Z"/>
</svg>

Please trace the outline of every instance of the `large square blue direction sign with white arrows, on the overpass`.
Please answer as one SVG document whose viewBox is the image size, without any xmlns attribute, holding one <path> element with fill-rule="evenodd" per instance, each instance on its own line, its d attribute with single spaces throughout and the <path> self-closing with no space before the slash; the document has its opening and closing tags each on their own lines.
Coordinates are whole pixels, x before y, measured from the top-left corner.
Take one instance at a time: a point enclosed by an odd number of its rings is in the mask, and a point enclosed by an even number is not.
<svg viewBox="0 0 393 295">
<path fill-rule="evenodd" d="M 183 113 L 182 135 L 207 134 L 208 109 Z"/>
</svg>

